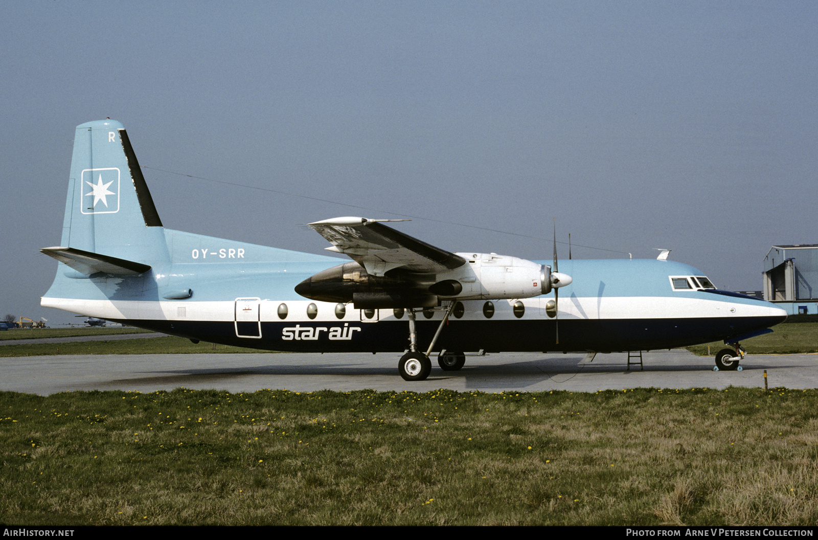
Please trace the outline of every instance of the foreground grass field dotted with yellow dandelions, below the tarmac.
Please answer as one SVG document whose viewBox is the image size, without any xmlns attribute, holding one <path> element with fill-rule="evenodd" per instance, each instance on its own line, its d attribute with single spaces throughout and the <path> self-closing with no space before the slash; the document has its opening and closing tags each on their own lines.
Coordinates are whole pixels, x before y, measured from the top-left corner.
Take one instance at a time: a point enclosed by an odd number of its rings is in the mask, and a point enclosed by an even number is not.
<svg viewBox="0 0 818 540">
<path fill-rule="evenodd" d="M 804 524 L 818 391 L 0 393 L 5 524 Z"/>
</svg>

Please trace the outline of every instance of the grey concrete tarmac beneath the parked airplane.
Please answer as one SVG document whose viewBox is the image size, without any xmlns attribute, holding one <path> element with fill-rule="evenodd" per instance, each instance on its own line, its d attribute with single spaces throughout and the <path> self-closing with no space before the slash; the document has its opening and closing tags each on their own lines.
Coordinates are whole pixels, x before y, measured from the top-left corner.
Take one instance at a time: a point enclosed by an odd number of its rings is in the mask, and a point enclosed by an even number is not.
<svg viewBox="0 0 818 540">
<path fill-rule="evenodd" d="M 499 353 L 466 357 L 461 371 L 443 371 L 433 358 L 429 379 L 407 382 L 398 375 L 399 353 L 213 353 L 74 355 L 0 358 L 0 390 L 55 394 L 72 390 L 153 392 L 179 387 L 224 389 L 412 390 L 446 388 L 483 392 L 600 389 L 764 387 L 818 388 L 818 355 L 758 354 L 741 362 L 743 371 L 712 371 L 712 357 L 684 349 L 644 353 L 644 371 L 627 370 L 627 354 Z"/>
</svg>

